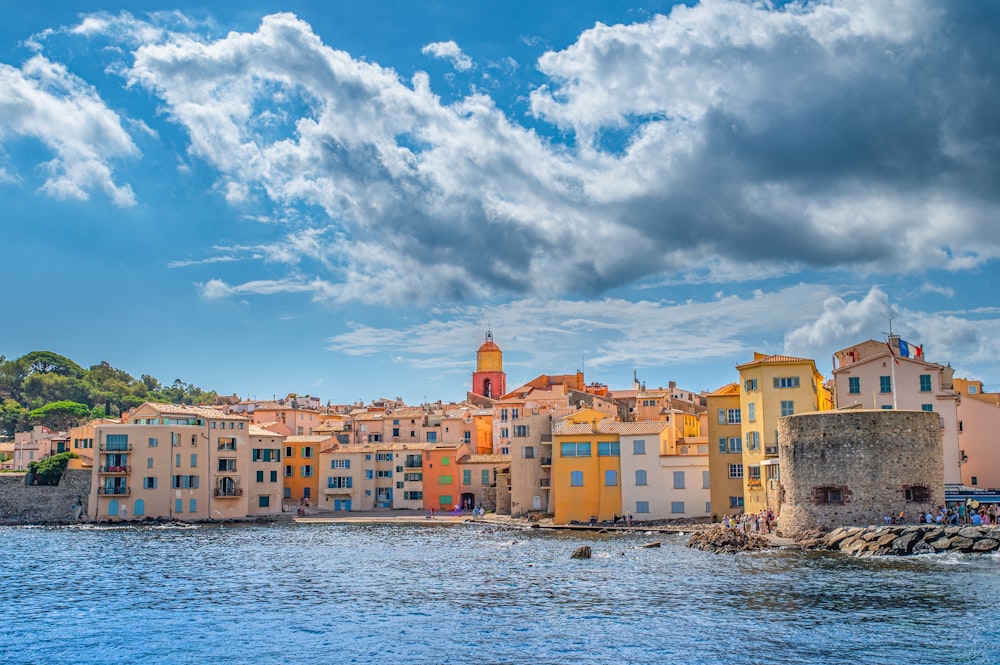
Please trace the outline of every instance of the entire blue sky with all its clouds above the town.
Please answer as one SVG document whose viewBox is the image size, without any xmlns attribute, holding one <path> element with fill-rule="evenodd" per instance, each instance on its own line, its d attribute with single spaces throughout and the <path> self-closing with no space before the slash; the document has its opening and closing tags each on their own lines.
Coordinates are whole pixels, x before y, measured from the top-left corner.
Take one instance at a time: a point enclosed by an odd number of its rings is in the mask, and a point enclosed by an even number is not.
<svg viewBox="0 0 1000 665">
<path fill-rule="evenodd" d="M 8 358 L 419 403 L 487 327 L 509 386 L 712 390 L 891 319 L 1000 390 L 995 3 L 4 14 Z"/>
</svg>

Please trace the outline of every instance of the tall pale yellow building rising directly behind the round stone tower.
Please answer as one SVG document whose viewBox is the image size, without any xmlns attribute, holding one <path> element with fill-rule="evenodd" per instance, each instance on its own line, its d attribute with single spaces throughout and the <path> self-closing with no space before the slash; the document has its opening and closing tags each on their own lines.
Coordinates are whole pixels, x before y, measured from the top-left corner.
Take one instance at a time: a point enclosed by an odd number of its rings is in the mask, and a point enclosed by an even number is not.
<svg viewBox="0 0 1000 665">
<path fill-rule="evenodd" d="M 754 353 L 737 365 L 740 406 L 716 410 L 718 425 L 740 425 L 743 437 L 744 512 L 778 510 L 778 419 L 832 408 L 823 375 L 808 358 Z"/>
</svg>

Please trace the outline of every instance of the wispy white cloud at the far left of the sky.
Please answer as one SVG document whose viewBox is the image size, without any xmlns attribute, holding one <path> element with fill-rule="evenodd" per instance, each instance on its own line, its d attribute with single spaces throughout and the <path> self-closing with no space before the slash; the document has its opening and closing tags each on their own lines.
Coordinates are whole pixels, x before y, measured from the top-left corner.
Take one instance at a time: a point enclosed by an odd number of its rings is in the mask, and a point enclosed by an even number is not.
<svg viewBox="0 0 1000 665">
<path fill-rule="evenodd" d="M 20 69 L 0 64 L 0 146 L 18 138 L 51 152 L 52 159 L 38 165 L 47 194 L 87 200 L 96 190 L 116 205 L 135 205 L 132 188 L 112 175 L 116 159 L 139 152 L 121 118 L 91 86 L 42 55 Z"/>
</svg>

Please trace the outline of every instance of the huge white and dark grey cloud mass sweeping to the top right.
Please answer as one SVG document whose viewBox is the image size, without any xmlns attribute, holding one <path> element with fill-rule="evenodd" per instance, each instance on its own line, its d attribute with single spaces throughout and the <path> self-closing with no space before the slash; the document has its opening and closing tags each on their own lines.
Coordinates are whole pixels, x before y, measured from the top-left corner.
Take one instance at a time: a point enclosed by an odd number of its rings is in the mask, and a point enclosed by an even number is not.
<svg viewBox="0 0 1000 665">
<path fill-rule="evenodd" d="M 539 60 L 535 125 L 481 92 L 444 104 L 425 74 L 403 80 L 291 14 L 212 39 L 113 18 L 80 30 L 138 40 L 129 85 L 162 101 L 233 206 L 323 211 L 315 278 L 333 300 L 1000 256 L 989 3 L 711 0 L 598 24 Z M 453 42 L 425 52 L 464 66 Z"/>
</svg>

